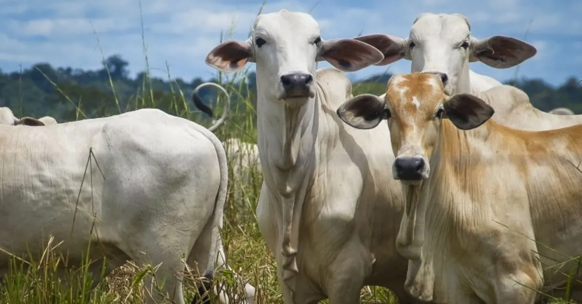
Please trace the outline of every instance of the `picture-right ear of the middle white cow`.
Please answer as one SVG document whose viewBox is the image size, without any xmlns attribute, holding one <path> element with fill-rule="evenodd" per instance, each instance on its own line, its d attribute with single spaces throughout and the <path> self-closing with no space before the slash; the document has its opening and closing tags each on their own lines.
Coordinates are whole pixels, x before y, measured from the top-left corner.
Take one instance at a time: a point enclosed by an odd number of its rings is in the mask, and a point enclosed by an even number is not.
<svg viewBox="0 0 582 304">
<path fill-rule="evenodd" d="M 383 59 L 384 55 L 377 48 L 353 39 L 321 42 L 317 56 L 317 61 L 327 60 L 342 71 L 361 70 Z"/>
</svg>

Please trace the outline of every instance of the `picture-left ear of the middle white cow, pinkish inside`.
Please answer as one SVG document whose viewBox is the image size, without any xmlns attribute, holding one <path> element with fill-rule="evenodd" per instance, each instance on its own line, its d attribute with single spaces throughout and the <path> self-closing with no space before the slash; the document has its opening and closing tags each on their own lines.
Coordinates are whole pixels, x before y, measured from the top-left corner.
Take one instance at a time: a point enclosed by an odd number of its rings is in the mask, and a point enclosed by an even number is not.
<svg viewBox="0 0 582 304">
<path fill-rule="evenodd" d="M 208 53 L 205 61 L 215 69 L 234 73 L 242 70 L 247 62 L 254 62 L 253 45 L 251 40 L 222 42 Z"/>
</svg>

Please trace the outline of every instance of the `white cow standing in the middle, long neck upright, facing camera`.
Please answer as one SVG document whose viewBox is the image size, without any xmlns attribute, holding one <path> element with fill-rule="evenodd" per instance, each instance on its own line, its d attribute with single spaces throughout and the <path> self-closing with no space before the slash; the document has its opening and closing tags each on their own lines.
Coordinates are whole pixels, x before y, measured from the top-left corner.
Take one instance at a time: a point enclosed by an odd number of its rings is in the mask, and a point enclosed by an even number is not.
<svg viewBox="0 0 582 304">
<path fill-rule="evenodd" d="M 391 146 L 378 141 L 388 128 L 346 126 L 335 111 L 352 95 L 350 81 L 336 69 L 316 70 L 321 60 L 356 71 L 381 59 L 360 41 L 322 40 L 313 17 L 287 10 L 257 16 L 249 40 L 223 42 L 206 58 L 225 72 L 257 63 L 257 219 L 285 303 L 359 303 L 364 285 L 411 301 L 395 248 L 402 191 L 386 170 Z"/>
</svg>

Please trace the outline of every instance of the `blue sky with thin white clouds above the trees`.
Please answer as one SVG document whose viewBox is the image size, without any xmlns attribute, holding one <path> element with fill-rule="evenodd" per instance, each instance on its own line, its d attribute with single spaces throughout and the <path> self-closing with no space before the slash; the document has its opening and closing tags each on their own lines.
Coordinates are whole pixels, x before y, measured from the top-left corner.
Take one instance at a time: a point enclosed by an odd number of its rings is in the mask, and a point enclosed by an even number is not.
<svg viewBox="0 0 582 304">
<path fill-rule="evenodd" d="M 152 74 L 190 81 L 210 78 L 215 70 L 204 63 L 219 42 L 221 31 L 234 24 L 233 38 L 244 39 L 258 12 L 257 0 L 141 0 L 145 44 Z M 38 62 L 55 67 L 98 69 L 102 55 L 120 54 L 132 75 L 145 68 L 139 0 L 0 0 L 0 69 L 20 70 Z M 520 66 L 519 76 L 560 84 L 582 77 L 582 1 L 580 0 L 285 0 L 269 1 L 264 12 L 286 8 L 310 12 L 322 37 L 347 38 L 386 33 L 407 37 L 423 12 L 463 13 L 474 37 L 508 35 L 538 49 Z M 95 31 L 95 33 L 94 33 Z M 97 42 L 99 40 L 99 43 Z M 321 65 L 327 66 L 327 65 Z M 368 67 L 349 73 L 363 78 L 410 71 L 410 62 Z M 471 69 L 504 81 L 515 69 L 494 69 L 471 63 Z"/>
</svg>

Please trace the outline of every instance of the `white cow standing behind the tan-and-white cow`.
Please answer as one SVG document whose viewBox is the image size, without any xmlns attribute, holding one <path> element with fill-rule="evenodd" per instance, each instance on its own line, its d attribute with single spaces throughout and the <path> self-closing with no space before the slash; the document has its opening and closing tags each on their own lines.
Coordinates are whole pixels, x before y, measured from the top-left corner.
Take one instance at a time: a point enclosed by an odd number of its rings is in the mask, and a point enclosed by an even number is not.
<svg viewBox="0 0 582 304">
<path fill-rule="evenodd" d="M 531 58 L 537 51 L 526 42 L 505 36 L 477 40 L 471 36 L 469 19 L 461 14 L 423 13 L 414 20 L 406 39 L 385 34 L 354 39 L 384 53 L 384 60 L 377 65 L 388 65 L 402 58 L 411 60 L 411 71 L 439 74 L 446 94 L 479 96 L 495 109 L 492 119 L 505 126 L 541 131 L 582 123 L 581 115 L 566 118 L 534 108 L 522 91 L 508 88 L 484 93 L 502 84 L 471 71 L 470 62 L 481 61 L 491 67 L 508 69 Z M 384 98 L 384 94 L 379 97 Z"/>
</svg>

